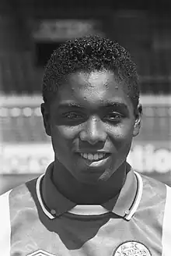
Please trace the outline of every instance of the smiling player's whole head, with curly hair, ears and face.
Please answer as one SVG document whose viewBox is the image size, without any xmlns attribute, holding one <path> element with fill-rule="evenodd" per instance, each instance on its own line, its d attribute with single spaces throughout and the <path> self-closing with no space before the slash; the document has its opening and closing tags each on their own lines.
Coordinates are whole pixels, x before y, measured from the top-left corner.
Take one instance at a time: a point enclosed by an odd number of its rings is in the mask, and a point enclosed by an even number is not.
<svg viewBox="0 0 171 256">
<path fill-rule="evenodd" d="M 124 167 L 141 105 L 134 62 L 120 44 L 97 36 L 63 44 L 47 62 L 43 98 L 55 161 L 76 180 L 103 182 Z"/>
</svg>

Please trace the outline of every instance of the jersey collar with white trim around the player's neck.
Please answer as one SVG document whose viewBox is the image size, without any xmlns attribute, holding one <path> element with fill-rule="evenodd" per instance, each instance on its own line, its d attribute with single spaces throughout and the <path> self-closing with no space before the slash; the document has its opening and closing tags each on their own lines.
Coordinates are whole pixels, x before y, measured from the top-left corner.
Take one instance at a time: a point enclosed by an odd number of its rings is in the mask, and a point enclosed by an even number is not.
<svg viewBox="0 0 171 256">
<path fill-rule="evenodd" d="M 77 205 L 68 200 L 54 186 L 51 180 L 52 171 L 53 163 L 48 166 L 45 175 L 37 179 L 37 197 L 41 208 L 50 219 L 63 215 L 65 212 L 76 215 L 101 215 L 113 212 L 129 220 L 138 208 L 142 194 L 142 180 L 141 176 L 131 167 L 120 193 L 101 205 Z"/>
</svg>

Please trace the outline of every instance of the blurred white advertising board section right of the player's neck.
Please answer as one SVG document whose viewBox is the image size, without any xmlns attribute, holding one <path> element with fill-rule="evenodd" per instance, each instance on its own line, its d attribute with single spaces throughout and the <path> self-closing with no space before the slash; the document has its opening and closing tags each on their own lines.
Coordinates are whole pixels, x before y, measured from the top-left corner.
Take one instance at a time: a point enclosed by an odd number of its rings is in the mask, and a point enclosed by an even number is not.
<svg viewBox="0 0 171 256">
<path fill-rule="evenodd" d="M 152 140 L 133 142 L 127 162 L 131 166 L 171 187 L 171 147 L 169 141 Z"/>
</svg>

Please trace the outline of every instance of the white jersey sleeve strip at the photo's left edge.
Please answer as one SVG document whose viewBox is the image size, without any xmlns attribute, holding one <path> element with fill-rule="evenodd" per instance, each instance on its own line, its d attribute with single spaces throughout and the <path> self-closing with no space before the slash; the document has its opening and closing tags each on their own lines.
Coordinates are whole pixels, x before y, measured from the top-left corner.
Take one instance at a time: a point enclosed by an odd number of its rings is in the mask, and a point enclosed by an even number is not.
<svg viewBox="0 0 171 256">
<path fill-rule="evenodd" d="M 10 256 L 10 211 L 9 194 L 11 190 L 0 196 L 0 255 Z"/>
</svg>

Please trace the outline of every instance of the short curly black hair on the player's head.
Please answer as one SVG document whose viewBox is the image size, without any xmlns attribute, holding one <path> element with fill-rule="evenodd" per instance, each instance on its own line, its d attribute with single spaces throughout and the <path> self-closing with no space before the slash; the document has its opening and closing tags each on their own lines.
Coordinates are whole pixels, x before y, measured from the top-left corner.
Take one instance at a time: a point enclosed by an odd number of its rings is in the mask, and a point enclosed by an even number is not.
<svg viewBox="0 0 171 256">
<path fill-rule="evenodd" d="M 134 108 L 137 108 L 140 91 L 138 73 L 130 54 L 116 41 L 96 35 L 66 41 L 53 52 L 43 77 L 44 102 L 48 102 L 57 93 L 64 76 L 76 71 L 104 69 L 126 81 L 127 96 L 131 98 Z"/>
</svg>

